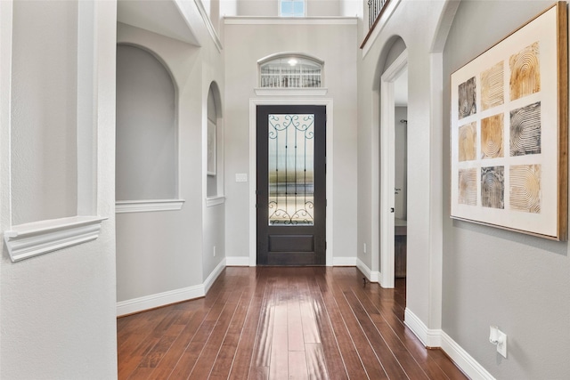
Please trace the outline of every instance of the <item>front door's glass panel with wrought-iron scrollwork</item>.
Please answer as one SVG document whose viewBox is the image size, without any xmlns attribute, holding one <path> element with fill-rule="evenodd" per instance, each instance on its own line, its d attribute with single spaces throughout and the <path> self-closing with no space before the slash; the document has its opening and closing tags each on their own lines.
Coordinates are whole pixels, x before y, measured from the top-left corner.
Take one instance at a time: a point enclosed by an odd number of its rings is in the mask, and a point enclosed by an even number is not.
<svg viewBox="0 0 570 380">
<path fill-rule="evenodd" d="M 313 225 L 314 115 L 269 115 L 269 225 Z"/>
</svg>

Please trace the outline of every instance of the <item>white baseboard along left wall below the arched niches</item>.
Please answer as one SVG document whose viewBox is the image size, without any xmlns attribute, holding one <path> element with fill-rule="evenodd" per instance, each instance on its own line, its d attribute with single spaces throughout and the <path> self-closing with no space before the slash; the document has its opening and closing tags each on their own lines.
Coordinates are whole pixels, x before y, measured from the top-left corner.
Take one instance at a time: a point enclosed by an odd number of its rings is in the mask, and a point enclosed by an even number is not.
<svg viewBox="0 0 570 380">
<path fill-rule="evenodd" d="M 154 309 L 156 307 L 165 306 L 170 303 L 179 303 L 194 298 L 203 297 L 208 293 L 214 281 L 224 271 L 225 259 L 216 266 L 216 269 L 210 273 L 208 279 L 201 285 L 193 287 L 183 287 L 181 289 L 169 290 L 167 292 L 157 293 L 155 295 L 145 295 L 117 303 L 117 316 L 132 314 L 134 312 Z"/>
</svg>

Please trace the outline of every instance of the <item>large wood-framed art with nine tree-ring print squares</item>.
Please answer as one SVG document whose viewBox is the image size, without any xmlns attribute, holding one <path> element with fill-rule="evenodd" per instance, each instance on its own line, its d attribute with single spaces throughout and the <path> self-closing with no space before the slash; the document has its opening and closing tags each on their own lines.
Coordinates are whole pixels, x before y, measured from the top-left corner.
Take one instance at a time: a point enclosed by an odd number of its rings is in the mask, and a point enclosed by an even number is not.
<svg viewBox="0 0 570 380">
<path fill-rule="evenodd" d="M 566 2 L 451 77 L 451 216 L 567 239 Z"/>
</svg>

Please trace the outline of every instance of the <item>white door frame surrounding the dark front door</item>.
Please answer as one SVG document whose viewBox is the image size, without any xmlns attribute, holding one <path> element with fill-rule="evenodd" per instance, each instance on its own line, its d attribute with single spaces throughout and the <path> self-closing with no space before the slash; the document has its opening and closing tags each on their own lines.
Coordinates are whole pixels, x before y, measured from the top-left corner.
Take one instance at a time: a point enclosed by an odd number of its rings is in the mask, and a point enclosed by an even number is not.
<svg viewBox="0 0 570 380">
<path fill-rule="evenodd" d="M 333 264 L 333 249 L 334 242 L 332 236 L 333 230 L 333 101 L 332 99 L 298 99 L 298 98 L 286 98 L 286 99 L 250 99 L 249 100 L 249 266 L 257 265 L 257 229 L 256 229 L 256 170 L 257 170 L 257 141 L 256 141 L 256 108 L 257 106 L 269 106 L 269 105 L 283 105 L 283 106 L 293 106 L 293 105 L 314 105 L 314 106 L 326 106 L 327 108 L 327 179 L 326 179 L 326 191 L 327 191 L 327 214 L 326 214 L 326 239 L 327 239 L 327 249 L 326 249 L 326 266 L 332 266 Z"/>
</svg>

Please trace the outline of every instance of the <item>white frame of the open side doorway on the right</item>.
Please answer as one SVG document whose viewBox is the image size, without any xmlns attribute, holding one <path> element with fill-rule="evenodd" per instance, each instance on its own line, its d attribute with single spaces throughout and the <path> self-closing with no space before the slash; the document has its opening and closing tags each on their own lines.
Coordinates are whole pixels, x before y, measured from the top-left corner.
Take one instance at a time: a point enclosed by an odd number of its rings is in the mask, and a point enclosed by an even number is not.
<svg viewBox="0 0 570 380">
<path fill-rule="evenodd" d="M 404 50 L 398 58 L 384 71 L 380 78 L 380 183 L 379 187 L 379 226 L 372 226 L 373 231 L 379 230 L 380 248 L 379 282 L 381 287 L 395 286 L 395 249 L 394 249 L 394 218 L 391 210 L 395 207 L 395 99 L 394 82 L 408 67 L 408 51 Z M 377 140 L 375 140 L 375 143 Z M 377 220 L 373 218 L 373 220 Z M 379 227 L 379 228 L 378 228 Z M 378 235 L 377 235 L 378 236 Z"/>
</svg>

